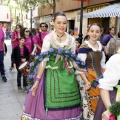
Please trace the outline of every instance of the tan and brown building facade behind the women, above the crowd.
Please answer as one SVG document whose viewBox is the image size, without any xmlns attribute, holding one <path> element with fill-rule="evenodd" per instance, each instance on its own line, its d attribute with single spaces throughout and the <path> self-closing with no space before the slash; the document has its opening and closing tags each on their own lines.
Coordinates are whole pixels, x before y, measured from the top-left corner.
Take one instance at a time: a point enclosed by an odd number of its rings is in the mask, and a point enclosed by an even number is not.
<svg viewBox="0 0 120 120">
<path fill-rule="evenodd" d="M 92 12 L 101 8 L 104 8 L 108 5 L 114 4 L 119 2 L 119 0 L 87 0 L 87 2 L 84 2 L 83 7 L 83 14 L 87 12 Z M 80 27 L 80 7 L 81 7 L 81 1 L 75 1 L 75 0 L 61 0 L 60 2 L 57 2 L 56 4 L 56 12 L 57 11 L 63 11 L 68 20 L 68 26 L 67 31 L 69 29 L 73 29 L 75 36 L 78 36 L 79 34 L 79 27 Z M 38 14 L 37 16 L 34 16 L 33 19 L 37 19 L 34 22 L 34 24 L 38 24 L 38 22 L 46 22 L 49 25 L 49 29 L 51 29 L 51 21 L 52 21 L 52 13 L 53 10 L 46 5 L 45 8 L 38 7 Z M 117 24 L 119 24 L 119 18 L 83 18 L 83 35 L 86 34 L 86 27 L 89 24 L 92 24 L 94 22 L 99 23 L 105 30 L 107 30 L 109 27 L 116 27 Z M 37 26 L 36 26 L 37 27 Z M 116 28 L 118 31 L 119 29 Z"/>
</svg>

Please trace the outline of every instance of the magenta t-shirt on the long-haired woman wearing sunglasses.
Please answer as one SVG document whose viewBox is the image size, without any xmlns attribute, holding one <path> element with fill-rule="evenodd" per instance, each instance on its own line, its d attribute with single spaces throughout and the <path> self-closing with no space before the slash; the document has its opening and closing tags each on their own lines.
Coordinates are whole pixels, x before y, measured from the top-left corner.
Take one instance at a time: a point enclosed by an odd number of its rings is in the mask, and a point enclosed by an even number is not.
<svg viewBox="0 0 120 120">
<path fill-rule="evenodd" d="M 26 42 L 25 42 L 25 46 L 28 48 L 29 53 L 31 54 L 33 51 L 34 44 L 36 44 L 36 39 L 34 37 L 32 37 L 33 40 L 33 45 L 32 45 L 32 41 L 31 41 L 31 37 L 26 38 Z"/>
</svg>

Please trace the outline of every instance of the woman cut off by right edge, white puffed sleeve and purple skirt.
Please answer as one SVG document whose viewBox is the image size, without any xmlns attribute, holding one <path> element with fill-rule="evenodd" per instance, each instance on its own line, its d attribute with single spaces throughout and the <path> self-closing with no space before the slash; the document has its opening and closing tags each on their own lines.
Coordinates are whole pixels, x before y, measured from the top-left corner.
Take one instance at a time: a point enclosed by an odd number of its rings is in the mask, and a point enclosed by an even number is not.
<svg viewBox="0 0 120 120">
<path fill-rule="evenodd" d="M 120 101 L 120 49 L 106 63 L 103 78 L 99 80 L 101 98 L 99 99 L 94 120 L 109 120 L 109 107 Z M 117 88 L 117 89 L 116 89 Z M 117 93 L 117 95 L 116 95 Z M 102 114 L 103 113 L 103 114 Z M 113 120 L 113 119 L 112 119 Z M 120 120 L 118 116 L 117 120 Z"/>
</svg>

